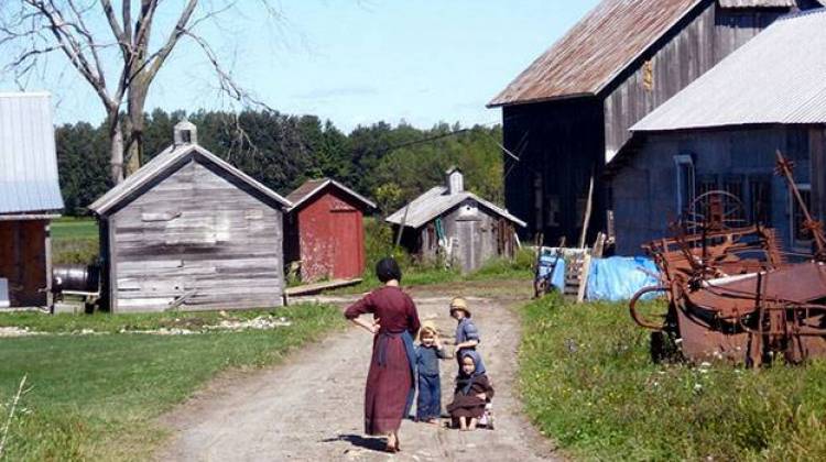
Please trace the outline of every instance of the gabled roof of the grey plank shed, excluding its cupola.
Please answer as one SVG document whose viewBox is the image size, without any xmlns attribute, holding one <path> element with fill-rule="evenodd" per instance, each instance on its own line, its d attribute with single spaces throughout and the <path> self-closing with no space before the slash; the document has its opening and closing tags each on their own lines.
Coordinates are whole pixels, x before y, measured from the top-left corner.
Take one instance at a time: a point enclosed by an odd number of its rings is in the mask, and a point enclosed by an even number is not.
<svg viewBox="0 0 826 462">
<path fill-rule="evenodd" d="M 281 205 L 282 207 L 290 208 L 292 204 L 279 196 L 272 189 L 257 182 L 249 175 L 233 167 L 222 158 L 210 153 L 198 144 L 180 144 L 172 145 L 164 150 L 161 154 L 156 155 L 152 161 L 143 165 L 138 172 L 127 177 L 123 183 L 110 189 L 107 194 L 96 200 L 89 206 L 89 210 L 97 215 L 106 215 L 116 206 L 130 201 L 134 198 L 133 194 L 140 190 L 143 186 L 150 184 L 153 179 L 160 177 L 170 169 L 175 169 L 180 166 L 180 163 L 188 158 L 189 156 L 200 156 L 210 164 L 218 168 L 227 172 L 232 177 L 237 178 L 242 184 L 246 184 L 253 190 L 260 193 L 262 196 L 270 198 Z"/>
</svg>

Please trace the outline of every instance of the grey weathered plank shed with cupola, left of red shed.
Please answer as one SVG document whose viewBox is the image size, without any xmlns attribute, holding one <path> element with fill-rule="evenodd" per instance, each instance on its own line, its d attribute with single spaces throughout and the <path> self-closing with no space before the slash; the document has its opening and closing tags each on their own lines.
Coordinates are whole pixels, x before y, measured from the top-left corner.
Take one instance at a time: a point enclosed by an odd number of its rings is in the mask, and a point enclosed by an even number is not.
<svg viewBox="0 0 826 462">
<path fill-rule="evenodd" d="M 282 305 L 284 198 L 175 125 L 174 144 L 89 209 L 113 312 Z"/>
</svg>

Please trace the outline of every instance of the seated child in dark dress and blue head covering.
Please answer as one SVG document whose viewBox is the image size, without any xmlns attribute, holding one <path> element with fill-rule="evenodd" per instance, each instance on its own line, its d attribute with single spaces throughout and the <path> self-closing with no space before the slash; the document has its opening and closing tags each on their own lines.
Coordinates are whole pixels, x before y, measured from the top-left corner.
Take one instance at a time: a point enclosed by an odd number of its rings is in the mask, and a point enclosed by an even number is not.
<svg viewBox="0 0 826 462">
<path fill-rule="evenodd" d="M 493 397 L 493 387 L 485 373 L 479 353 L 466 351 L 461 354 L 461 367 L 456 377 L 453 403 L 447 405 L 454 428 L 475 430 L 485 415 L 485 405 Z"/>
</svg>

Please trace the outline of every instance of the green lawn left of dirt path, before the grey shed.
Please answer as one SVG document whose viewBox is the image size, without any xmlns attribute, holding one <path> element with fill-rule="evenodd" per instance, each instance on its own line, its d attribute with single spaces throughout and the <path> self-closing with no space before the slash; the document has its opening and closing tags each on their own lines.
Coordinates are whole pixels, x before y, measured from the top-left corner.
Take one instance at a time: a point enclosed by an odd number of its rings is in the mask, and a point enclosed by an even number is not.
<svg viewBox="0 0 826 462">
<path fill-rule="evenodd" d="M 264 311 L 232 312 L 252 317 Z M 272 312 L 290 327 L 197 336 L 37 336 L 0 339 L 0 403 L 24 374 L 33 386 L 26 414 L 12 426 L 4 460 L 135 460 L 165 433 L 155 419 L 226 370 L 260 367 L 344 326 L 338 309 L 305 305 Z M 0 322 L 47 331 L 77 328 L 164 327 L 210 321 L 216 314 L 43 317 L 13 315 Z M 178 321 L 180 322 L 180 321 Z M 2 410 L 2 409 L 0 409 Z M 0 457 L 2 459 L 2 457 Z"/>
</svg>

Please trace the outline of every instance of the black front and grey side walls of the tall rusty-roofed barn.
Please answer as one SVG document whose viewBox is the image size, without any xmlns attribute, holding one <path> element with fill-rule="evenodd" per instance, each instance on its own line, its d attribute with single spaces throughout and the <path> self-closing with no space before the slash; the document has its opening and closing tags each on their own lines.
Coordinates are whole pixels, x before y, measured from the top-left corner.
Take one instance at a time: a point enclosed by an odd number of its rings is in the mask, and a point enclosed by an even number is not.
<svg viewBox="0 0 826 462">
<path fill-rule="evenodd" d="M 787 12 L 789 8 L 725 10 L 707 1 L 598 97 L 504 107 L 504 146 L 520 156 L 514 161 L 504 155 L 506 204 L 528 221 L 520 235 L 532 239 L 542 232 L 547 244 L 558 243 L 561 237 L 578 242 L 595 173 L 591 242 L 605 230 L 609 199 L 599 179 L 606 161 L 628 142 L 628 130 Z"/>
</svg>

